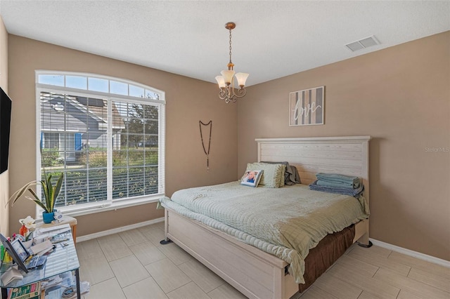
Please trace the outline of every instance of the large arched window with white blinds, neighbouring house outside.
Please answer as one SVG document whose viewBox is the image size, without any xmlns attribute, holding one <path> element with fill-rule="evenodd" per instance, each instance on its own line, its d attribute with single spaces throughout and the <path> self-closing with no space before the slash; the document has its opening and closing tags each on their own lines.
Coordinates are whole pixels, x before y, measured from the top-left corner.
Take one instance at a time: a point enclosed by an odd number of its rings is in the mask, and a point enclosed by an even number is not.
<svg viewBox="0 0 450 299">
<path fill-rule="evenodd" d="M 37 72 L 37 176 L 65 174 L 58 208 L 126 206 L 164 194 L 164 96 L 122 79 Z"/>
</svg>

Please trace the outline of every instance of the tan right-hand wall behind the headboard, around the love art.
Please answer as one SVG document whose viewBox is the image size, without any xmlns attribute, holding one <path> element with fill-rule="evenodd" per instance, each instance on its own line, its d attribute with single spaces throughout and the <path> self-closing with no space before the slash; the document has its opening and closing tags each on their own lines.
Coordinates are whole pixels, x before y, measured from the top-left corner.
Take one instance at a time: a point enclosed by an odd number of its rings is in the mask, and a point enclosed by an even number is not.
<svg viewBox="0 0 450 299">
<path fill-rule="evenodd" d="M 371 238 L 450 260 L 449 53 L 445 32 L 251 86 L 238 174 L 257 159 L 255 138 L 371 135 Z M 326 124 L 289 127 L 289 93 L 316 86 Z"/>
</svg>

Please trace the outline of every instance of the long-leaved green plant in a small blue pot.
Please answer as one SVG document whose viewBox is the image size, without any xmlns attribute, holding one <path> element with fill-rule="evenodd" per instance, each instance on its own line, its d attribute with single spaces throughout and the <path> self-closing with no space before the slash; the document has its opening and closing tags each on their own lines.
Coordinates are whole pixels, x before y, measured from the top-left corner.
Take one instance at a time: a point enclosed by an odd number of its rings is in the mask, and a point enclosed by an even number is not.
<svg viewBox="0 0 450 299">
<path fill-rule="evenodd" d="M 44 180 L 33 180 L 31 182 L 28 182 L 25 186 L 16 191 L 13 196 L 11 196 L 10 201 L 13 201 L 11 206 L 14 206 L 15 202 L 18 201 L 18 199 L 20 199 L 20 197 L 22 197 L 23 194 L 28 190 L 34 198 L 28 196 L 25 196 L 25 198 L 34 201 L 35 204 L 43 208 L 44 211 L 42 212 L 42 218 L 44 220 L 44 223 L 51 223 L 54 220 L 54 212 L 56 211 L 56 199 L 58 198 L 61 186 L 63 185 L 63 179 L 64 173 L 61 173 L 58 178 L 58 182 L 56 182 L 56 185 L 53 185 L 53 183 L 51 182 L 51 175 L 47 175 L 46 171 L 44 171 Z M 32 190 L 31 187 L 34 185 L 41 185 L 42 193 L 44 194 L 44 200 L 40 199 L 37 196 L 36 192 Z"/>
</svg>

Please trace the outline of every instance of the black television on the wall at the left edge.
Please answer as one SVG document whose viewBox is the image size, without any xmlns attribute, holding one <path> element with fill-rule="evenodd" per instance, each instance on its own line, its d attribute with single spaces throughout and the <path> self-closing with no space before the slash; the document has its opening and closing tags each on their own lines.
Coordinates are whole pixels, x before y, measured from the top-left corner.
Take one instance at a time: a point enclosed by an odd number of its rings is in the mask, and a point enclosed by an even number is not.
<svg viewBox="0 0 450 299">
<path fill-rule="evenodd" d="M 8 170 L 11 98 L 0 87 L 0 174 Z"/>
</svg>

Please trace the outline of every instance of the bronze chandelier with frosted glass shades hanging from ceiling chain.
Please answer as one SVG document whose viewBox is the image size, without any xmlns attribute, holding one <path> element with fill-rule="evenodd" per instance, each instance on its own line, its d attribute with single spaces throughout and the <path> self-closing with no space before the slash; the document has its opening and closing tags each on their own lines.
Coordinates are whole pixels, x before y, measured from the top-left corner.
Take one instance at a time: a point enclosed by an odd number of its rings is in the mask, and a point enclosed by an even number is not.
<svg viewBox="0 0 450 299">
<path fill-rule="evenodd" d="M 221 76 L 217 76 L 217 84 L 219 84 L 219 98 L 225 100 L 226 103 L 236 102 L 238 98 L 243 98 L 247 91 L 245 90 L 245 81 L 247 81 L 248 74 L 237 73 L 233 71 L 233 62 L 231 62 L 231 30 L 236 27 L 233 22 L 228 22 L 225 24 L 225 28 L 229 29 L 230 32 L 230 62 L 227 65 L 228 69 L 224 69 L 220 72 Z M 235 88 L 235 78 L 238 81 L 239 88 Z"/>
</svg>

